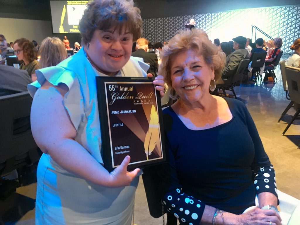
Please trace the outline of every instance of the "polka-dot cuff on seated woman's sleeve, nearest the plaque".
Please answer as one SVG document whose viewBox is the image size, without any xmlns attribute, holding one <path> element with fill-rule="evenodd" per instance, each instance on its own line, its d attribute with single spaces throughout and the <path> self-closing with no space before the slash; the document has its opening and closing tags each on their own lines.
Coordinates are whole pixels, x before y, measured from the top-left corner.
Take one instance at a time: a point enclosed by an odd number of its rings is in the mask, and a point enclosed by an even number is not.
<svg viewBox="0 0 300 225">
<path fill-rule="evenodd" d="M 193 196 L 188 196 L 181 189 L 168 192 L 163 203 L 168 212 L 174 214 L 180 224 L 198 225 L 205 208 L 205 203 Z"/>
</svg>

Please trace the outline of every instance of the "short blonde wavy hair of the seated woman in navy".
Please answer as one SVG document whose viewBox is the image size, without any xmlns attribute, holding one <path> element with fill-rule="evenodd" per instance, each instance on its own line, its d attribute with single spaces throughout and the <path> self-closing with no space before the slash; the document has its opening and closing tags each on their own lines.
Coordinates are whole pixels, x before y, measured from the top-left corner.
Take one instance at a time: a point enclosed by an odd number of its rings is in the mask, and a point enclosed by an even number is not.
<svg viewBox="0 0 300 225">
<path fill-rule="evenodd" d="M 164 45 L 161 51 L 161 64 L 158 68 L 158 74 L 164 76 L 164 81 L 169 87 L 172 87 L 171 67 L 173 58 L 181 52 L 193 50 L 202 55 L 208 66 L 214 68 L 214 79 L 217 81 L 221 77 L 222 69 L 225 65 L 225 53 L 218 50 L 207 34 L 201 29 L 193 29 L 192 31 L 182 31 L 175 35 L 167 45 Z M 214 85 L 214 81 L 211 81 Z"/>
</svg>

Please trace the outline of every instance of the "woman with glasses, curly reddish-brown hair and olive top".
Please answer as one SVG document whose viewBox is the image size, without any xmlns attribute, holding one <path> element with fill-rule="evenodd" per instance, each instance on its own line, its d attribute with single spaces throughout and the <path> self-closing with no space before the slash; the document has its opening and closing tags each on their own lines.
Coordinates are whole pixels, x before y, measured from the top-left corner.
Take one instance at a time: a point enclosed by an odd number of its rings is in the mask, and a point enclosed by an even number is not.
<svg viewBox="0 0 300 225">
<path fill-rule="evenodd" d="M 20 38 L 13 43 L 13 49 L 18 59 L 23 61 L 20 65 L 20 70 L 26 70 L 30 77 L 36 79 L 35 70 L 40 68 L 40 64 L 37 61 L 37 51 L 31 41 Z"/>
</svg>

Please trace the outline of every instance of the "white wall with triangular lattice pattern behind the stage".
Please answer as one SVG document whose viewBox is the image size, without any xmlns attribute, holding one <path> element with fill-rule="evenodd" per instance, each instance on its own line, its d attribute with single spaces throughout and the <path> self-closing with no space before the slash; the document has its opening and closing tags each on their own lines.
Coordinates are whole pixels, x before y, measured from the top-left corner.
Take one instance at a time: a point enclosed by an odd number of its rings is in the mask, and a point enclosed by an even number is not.
<svg viewBox="0 0 300 225">
<path fill-rule="evenodd" d="M 142 36 L 152 43 L 167 41 L 177 31 L 186 29 L 184 23 L 192 18 L 197 27 L 203 29 L 211 40 L 219 38 L 221 42 L 230 41 L 236 36 L 251 38 L 251 25 L 257 26 L 273 38 L 282 38 L 284 54 L 291 54 L 289 46 L 300 37 L 300 5 L 144 19 Z M 269 39 L 258 31 L 256 38 L 263 38 L 266 41 Z"/>
</svg>

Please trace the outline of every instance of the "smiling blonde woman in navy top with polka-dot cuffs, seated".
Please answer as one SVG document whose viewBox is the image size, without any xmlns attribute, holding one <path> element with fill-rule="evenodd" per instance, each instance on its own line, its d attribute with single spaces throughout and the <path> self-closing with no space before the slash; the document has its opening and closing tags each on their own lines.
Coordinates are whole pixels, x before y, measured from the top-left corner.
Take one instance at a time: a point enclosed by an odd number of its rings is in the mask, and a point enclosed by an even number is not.
<svg viewBox="0 0 300 225">
<path fill-rule="evenodd" d="M 179 100 L 163 110 L 169 163 L 144 173 L 167 211 L 180 224 L 281 225 L 274 169 L 250 113 L 241 101 L 208 92 L 224 53 L 194 29 L 173 37 L 161 58 L 159 74 Z M 261 209 L 267 205 L 274 210 Z"/>
</svg>

